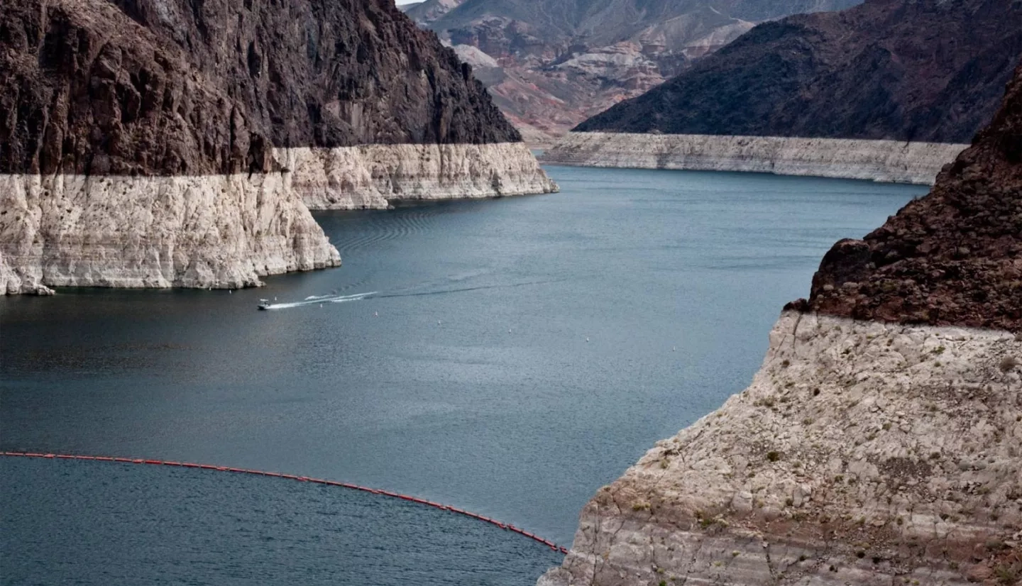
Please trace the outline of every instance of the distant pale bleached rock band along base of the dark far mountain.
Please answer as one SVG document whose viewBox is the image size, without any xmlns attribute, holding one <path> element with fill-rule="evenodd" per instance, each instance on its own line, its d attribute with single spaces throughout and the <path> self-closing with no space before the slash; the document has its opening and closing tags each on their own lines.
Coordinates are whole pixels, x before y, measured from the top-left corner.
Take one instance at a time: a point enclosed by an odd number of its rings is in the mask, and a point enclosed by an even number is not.
<svg viewBox="0 0 1022 586">
<path fill-rule="evenodd" d="M 623 133 L 570 133 L 546 162 L 737 170 L 932 185 L 965 144 Z"/>
</svg>

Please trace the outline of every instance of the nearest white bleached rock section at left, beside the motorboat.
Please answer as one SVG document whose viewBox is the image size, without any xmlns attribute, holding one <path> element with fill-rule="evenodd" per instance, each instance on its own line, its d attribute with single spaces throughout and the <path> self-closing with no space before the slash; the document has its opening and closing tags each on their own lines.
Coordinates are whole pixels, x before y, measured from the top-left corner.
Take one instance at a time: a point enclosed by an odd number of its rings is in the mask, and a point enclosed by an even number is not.
<svg viewBox="0 0 1022 586">
<path fill-rule="evenodd" d="M 340 264 L 283 174 L 0 175 L 0 291 L 261 285 Z"/>
</svg>

